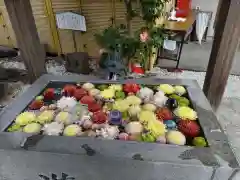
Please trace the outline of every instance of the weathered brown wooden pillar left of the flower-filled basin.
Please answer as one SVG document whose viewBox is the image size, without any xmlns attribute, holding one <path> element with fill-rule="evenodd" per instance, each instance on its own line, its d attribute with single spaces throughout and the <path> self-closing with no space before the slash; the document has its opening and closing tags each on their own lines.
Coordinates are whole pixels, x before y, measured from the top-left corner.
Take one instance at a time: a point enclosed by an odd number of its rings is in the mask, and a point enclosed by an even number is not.
<svg viewBox="0 0 240 180">
<path fill-rule="evenodd" d="M 4 0 L 29 79 L 35 81 L 45 70 L 45 50 L 40 44 L 30 0 Z"/>
</svg>

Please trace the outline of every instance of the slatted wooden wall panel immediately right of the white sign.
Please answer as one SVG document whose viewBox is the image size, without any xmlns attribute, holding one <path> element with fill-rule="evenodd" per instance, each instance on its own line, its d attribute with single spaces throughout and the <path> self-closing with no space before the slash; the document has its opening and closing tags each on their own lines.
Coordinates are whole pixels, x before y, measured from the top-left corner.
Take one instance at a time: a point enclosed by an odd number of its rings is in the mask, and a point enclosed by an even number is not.
<svg viewBox="0 0 240 180">
<path fill-rule="evenodd" d="M 85 50 L 91 56 L 98 56 L 100 47 L 96 44 L 94 34 L 112 24 L 112 1 L 82 0 L 81 6 L 87 23 L 87 32 L 83 33 Z"/>
</svg>

